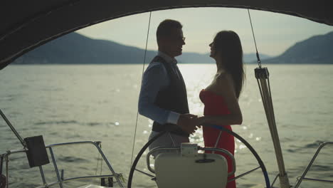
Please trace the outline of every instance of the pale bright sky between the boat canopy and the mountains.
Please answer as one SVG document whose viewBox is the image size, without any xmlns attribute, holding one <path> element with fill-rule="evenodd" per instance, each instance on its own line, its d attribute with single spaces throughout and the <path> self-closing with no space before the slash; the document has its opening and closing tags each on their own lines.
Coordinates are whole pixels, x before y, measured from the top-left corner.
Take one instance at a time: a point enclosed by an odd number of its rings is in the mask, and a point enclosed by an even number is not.
<svg viewBox="0 0 333 188">
<path fill-rule="evenodd" d="M 296 16 L 250 10 L 259 53 L 278 56 L 298 41 L 333 31 L 333 26 Z M 218 31 L 233 30 L 240 36 L 244 53 L 255 53 L 247 9 L 186 8 L 153 11 L 148 50 L 157 50 L 156 30 L 164 19 L 175 19 L 183 25 L 186 45 L 183 52 L 208 53 L 208 44 Z M 90 38 L 115 41 L 127 46 L 145 48 L 149 12 L 125 16 L 80 29 L 77 33 Z"/>
</svg>

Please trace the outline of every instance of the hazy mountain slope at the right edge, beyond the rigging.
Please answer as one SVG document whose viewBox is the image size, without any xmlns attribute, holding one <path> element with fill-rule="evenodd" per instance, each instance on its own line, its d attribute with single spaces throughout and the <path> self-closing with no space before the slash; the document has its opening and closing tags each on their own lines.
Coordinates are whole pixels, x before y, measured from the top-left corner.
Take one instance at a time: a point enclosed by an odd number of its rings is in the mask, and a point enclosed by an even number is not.
<svg viewBox="0 0 333 188">
<path fill-rule="evenodd" d="M 295 43 L 280 56 L 263 63 L 333 64 L 333 31 Z"/>
</svg>

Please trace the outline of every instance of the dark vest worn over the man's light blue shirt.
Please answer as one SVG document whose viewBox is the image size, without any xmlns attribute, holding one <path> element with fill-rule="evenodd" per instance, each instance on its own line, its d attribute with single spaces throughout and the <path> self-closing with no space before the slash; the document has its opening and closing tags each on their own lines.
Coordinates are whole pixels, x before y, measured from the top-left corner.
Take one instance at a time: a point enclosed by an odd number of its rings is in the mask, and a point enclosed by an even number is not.
<svg viewBox="0 0 333 188">
<path fill-rule="evenodd" d="M 175 73 L 170 63 L 167 63 L 162 57 L 155 56 L 152 62 L 160 62 L 164 65 L 166 69 L 166 73 L 169 76 L 169 86 L 166 88 L 159 90 L 157 93 L 157 98 L 155 99 L 154 104 L 159 108 L 163 108 L 166 110 L 173 111 L 175 113 L 185 114 L 189 113 L 189 104 L 187 103 L 187 94 L 186 94 L 186 86 L 181 76 L 181 73 L 178 71 L 178 75 Z M 151 63 L 152 63 L 151 62 Z M 178 125 L 174 125 L 171 123 L 166 123 L 164 125 L 159 124 L 158 122 L 153 123 L 152 130 L 160 132 L 163 130 L 169 130 L 171 133 L 176 135 L 181 135 L 184 137 L 189 137 L 187 132 L 181 130 Z"/>
</svg>

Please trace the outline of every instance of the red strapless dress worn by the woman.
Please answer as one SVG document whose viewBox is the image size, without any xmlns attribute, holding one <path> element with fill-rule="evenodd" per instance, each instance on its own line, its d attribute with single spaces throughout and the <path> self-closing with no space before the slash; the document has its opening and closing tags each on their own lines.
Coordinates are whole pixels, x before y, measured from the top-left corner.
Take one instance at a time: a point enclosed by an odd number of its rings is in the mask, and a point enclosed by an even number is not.
<svg viewBox="0 0 333 188">
<path fill-rule="evenodd" d="M 226 105 L 226 101 L 221 95 L 216 95 L 215 93 L 209 91 L 209 90 L 201 90 L 200 92 L 200 100 L 205 105 L 205 108 L 203 110 L 203 115 L 227 115 L 230 114 L 228 107 Z M 226 127 L 228 130 L 231 130 L 230 125 L 223 125 L 223 127 Z M 205 143 L 205 147 L 215 147 L 216 140 L 218 138 L 218 135 L 220 133 L 220 130 L 217 130 L 213 127 L 204 127 L 203 126 L 203 141 Z M 220 140 L 217 144 L 218 148 L 223 148 L 231 152 L 232 155 L 234 155 L 235 151 L 235 140 L 233 138 L 233 135 L 229 135 L 226 132 L 222 132 Z M 228 172 L 231 172 L 233 163 L 231 162 L 230 157 L 227 155 L 216 152 L 219 155 L 223 155 L 223 157 L 226 157 L 226 160 L 228 162 Z M 232 179 L 234 175 L 231 177 L 228 177 L 228 179 Z M 236 188 L 236 182 L 232 181 L 229 182 L 226 186 L 226 188 Z"/>
</svg>

